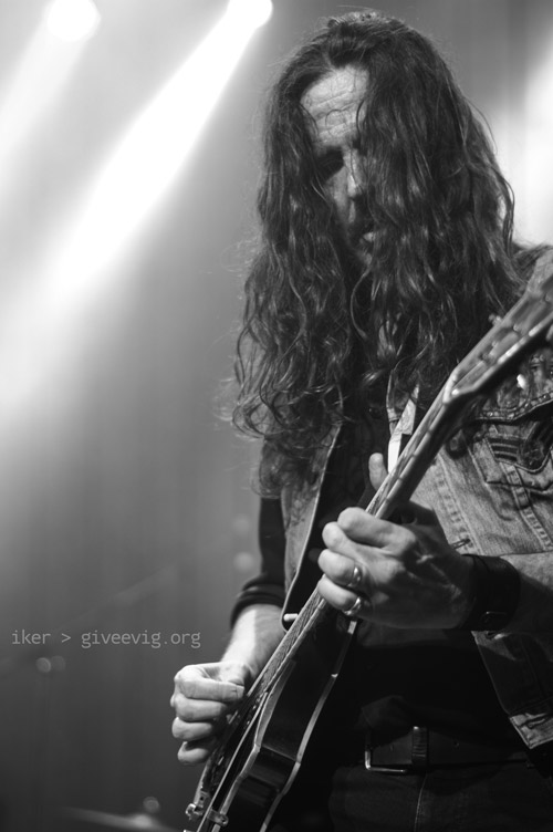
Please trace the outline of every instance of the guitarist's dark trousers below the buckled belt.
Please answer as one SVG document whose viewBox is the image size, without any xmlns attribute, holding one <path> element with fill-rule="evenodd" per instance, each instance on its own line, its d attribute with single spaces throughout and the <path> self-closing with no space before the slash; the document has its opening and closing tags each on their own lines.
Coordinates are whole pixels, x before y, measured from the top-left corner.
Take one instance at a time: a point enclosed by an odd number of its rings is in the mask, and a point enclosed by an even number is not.
<svg viewBox="0 0 553 832">
<path fill-rule="evenodd" d="M 553 784 L 524 762 L 389 774 L 306 772 L 271 832 L 553 832 Z"/>
</svg>

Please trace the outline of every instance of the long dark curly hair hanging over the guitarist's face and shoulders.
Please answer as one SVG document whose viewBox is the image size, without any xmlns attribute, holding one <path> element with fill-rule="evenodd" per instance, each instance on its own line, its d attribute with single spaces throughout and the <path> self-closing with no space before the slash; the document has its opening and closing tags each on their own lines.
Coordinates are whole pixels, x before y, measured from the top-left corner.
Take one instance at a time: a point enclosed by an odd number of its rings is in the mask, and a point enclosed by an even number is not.
<svg viewBox="0 0 553 832">
<path fill-rule="evenodd" d="M 366 71 L 359 142 L 371 263 L 353 260 L 316 168 L 302 96 Z M 328 19 L 268 102 L 259 253 L 246 283 L 234 424 L 264 438 L 260 482 L 313 476 L 331 429 L 418 389 L 425 407 L 521 292 L 513 199 L 481 121 L 434 45 L 377 12 Z"/>
</svg>

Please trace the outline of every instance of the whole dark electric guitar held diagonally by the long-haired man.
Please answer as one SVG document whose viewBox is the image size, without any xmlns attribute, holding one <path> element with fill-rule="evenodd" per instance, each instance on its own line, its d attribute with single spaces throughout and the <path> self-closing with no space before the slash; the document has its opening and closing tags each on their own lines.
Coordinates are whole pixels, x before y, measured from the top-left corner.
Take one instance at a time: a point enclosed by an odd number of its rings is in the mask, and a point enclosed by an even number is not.
<svg viewBox="0 0 553 832">
<path fill-rule="evenodd" d="M 366 510 L 386 519 L 405 503 L 477 397 L 486 397 L 547 332 L 553 342 L 553 274 L 533 280 L 451 373 Z M 199 821 L 196 832 L 267 830 L 300 768 L 355 626 L 313 592 L 204 769 L 187 809 L 188 819 Z"/>
</svg>

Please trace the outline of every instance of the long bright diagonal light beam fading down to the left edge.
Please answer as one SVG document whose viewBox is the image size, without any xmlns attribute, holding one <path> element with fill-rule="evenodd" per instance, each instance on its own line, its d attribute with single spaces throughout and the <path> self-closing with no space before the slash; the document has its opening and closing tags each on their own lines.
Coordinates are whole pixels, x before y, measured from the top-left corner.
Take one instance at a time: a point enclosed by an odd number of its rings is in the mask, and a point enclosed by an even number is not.
<svg viewBox="0 0 553 832">
<path fill-rule="evenodd" d="M 81 210 L 72 210 L 76 221 L 61 223 L 41 258 L 41 282 L 12 299 L 0 327 L 4 428 L 43 388 L 67 385 L 82 322 L 107 288 L 121 292 L 115 260 L 174 181 L 259 25 L 259 17 L 227 10 L 119 142 Z"/>
</svg>

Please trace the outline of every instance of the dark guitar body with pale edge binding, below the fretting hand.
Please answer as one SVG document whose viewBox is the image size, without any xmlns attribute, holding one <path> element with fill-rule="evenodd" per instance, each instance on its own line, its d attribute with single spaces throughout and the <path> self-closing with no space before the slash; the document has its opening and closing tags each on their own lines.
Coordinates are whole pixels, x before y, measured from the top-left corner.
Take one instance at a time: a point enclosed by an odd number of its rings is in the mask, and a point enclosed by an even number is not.
<svg viewBox="0 0 553 832">
<path fill-rule="evenodd" d="M 213 751 L 187 810 L 197 832 L 264 832 L 300 768 L 307 741 L 344 661 L 355 625 L 328 610 L 302 641 L 286 670 Z M 347 623 L 346 623 L 347 625 Z"/>
</svg>

